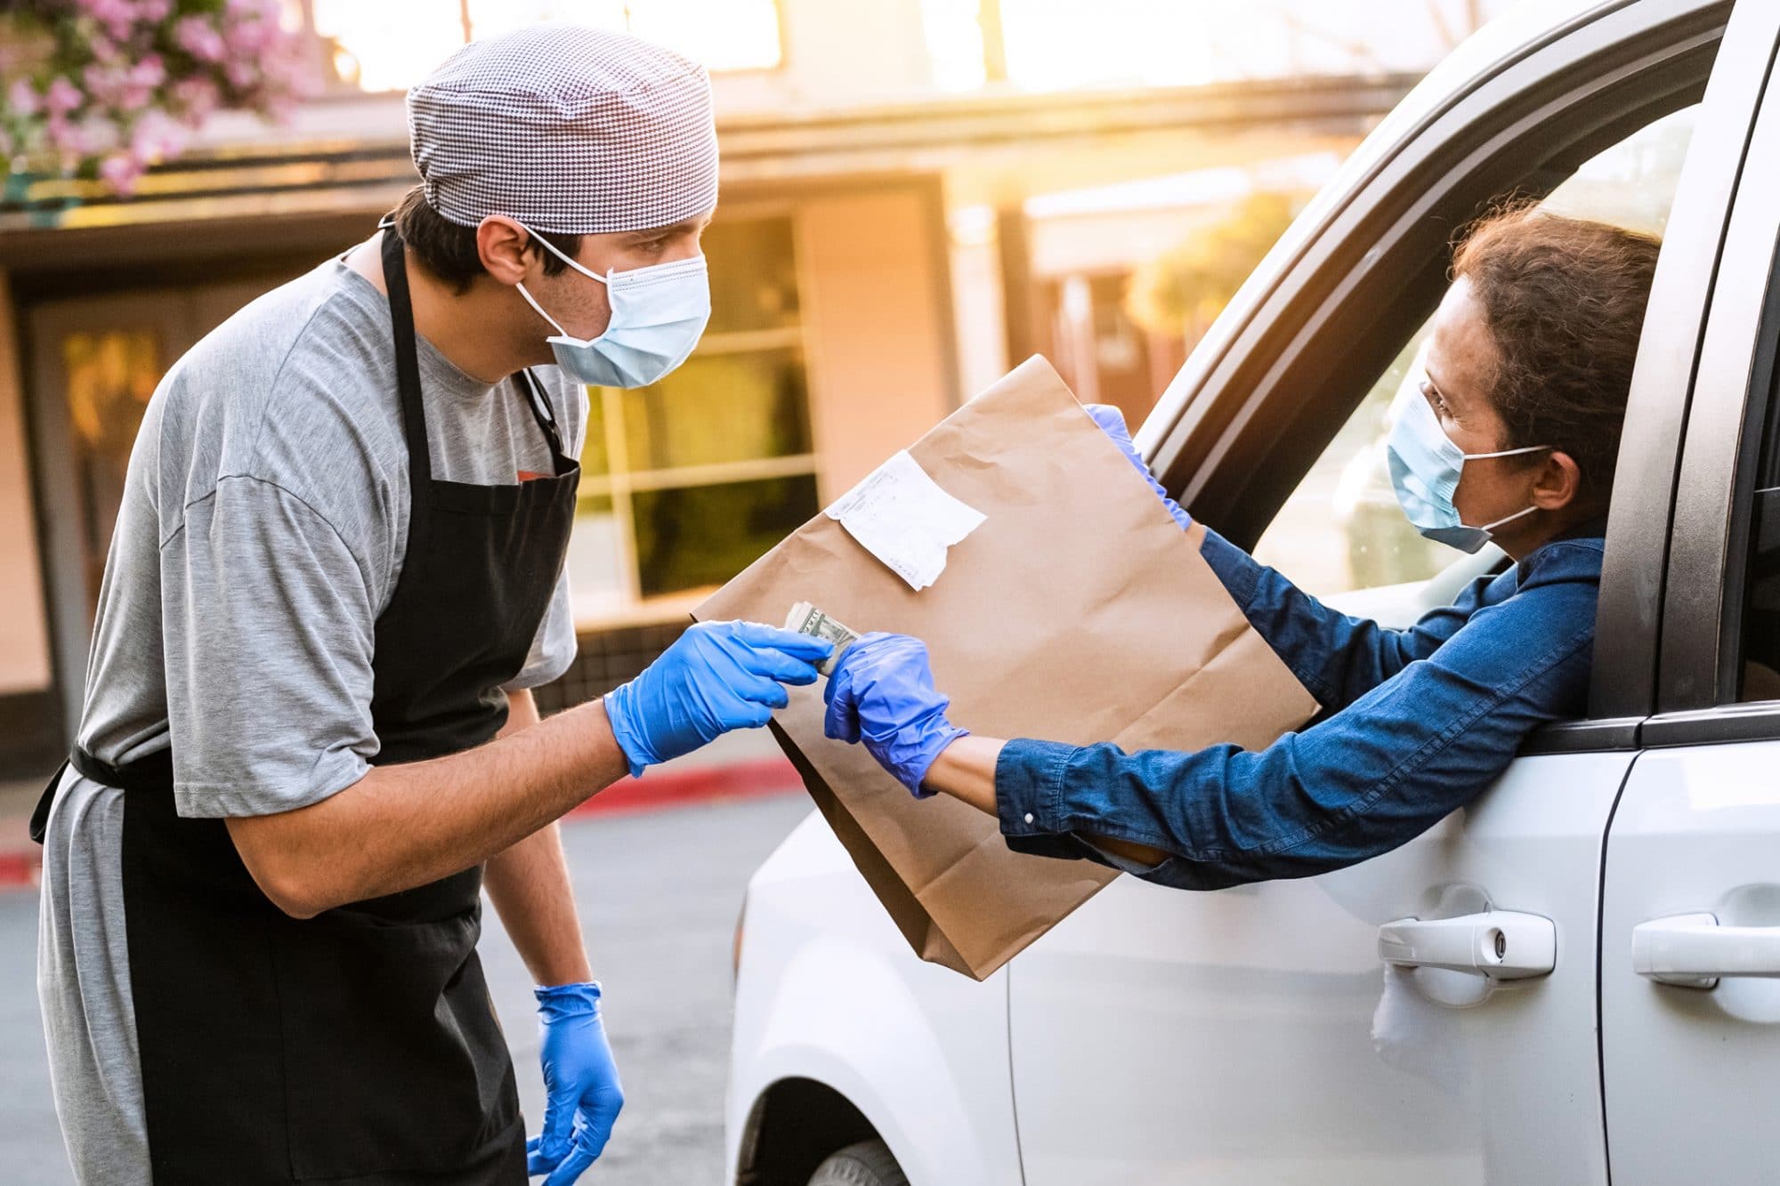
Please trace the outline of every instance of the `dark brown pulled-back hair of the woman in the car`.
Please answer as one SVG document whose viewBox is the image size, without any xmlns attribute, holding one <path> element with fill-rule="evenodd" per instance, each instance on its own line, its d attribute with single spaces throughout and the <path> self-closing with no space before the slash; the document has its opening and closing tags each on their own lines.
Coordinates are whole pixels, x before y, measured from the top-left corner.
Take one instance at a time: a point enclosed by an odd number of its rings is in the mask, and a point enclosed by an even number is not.
<svg viewBox="0 0 1780 1186">
<path fill-rule="evenodd" d="M 1661 240 L 1515 201 L 1474 223 L 1452 256 L 1495 338 L 1490 399 L 1504 449 L 1552 445 L 1606 506 Z"/>
</svg>

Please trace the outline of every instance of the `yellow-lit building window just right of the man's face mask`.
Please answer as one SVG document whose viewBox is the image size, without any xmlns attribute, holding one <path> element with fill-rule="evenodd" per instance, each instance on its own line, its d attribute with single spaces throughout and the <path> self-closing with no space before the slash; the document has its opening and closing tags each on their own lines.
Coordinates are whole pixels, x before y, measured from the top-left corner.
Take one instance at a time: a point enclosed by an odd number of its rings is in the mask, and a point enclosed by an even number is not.
<svg viewBox="0 0 1780 1186">
<path fill-rule="evenodd" d="M 712 319 L 660 383 L 591 388 L 570 586 L 582 627 L 682 613 L 815 515 L 790 217 L 705 232 Z"/>
</svg>

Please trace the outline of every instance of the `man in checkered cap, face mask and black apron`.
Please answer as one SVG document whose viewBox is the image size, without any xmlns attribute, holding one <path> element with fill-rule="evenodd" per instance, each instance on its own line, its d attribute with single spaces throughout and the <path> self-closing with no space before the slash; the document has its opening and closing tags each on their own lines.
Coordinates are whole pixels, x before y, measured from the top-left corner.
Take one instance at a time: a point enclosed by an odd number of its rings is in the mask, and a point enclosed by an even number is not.
<svg viewBox="0 0 1780 1186">
<path fill-rule="evenodd" d="M 532 28 L 408 110 L 424 185 L 182 358 L 130 463 L 78 746 L 34 821 L 82 1182 L 573 1182 L 621 1092 L 554 821 L 762 725 L 828 654 L 701 625 L 538 723 L 575 648 L 582 385 L 653 383 L 710 312 L 710 87 Z M 482 887 L 539 983 L 530 1158 Z"/>
</svg>

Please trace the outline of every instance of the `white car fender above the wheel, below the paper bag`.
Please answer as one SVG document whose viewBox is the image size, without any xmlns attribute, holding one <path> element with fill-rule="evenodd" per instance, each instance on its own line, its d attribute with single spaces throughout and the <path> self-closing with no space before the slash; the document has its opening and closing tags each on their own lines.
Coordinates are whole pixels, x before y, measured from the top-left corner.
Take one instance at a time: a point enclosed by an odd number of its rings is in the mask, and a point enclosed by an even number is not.
<svg viewBox="0 0 1780 1186">
<path fill-rule="evenodd" d="M 805 1077 L 858 1108 L 911 1182 L 1018 1186 L 1006 972 L 917 960 L 819 814 L 749 881 L 744 926 L 726 1181 L 755 1102 Z"/>
</svg>

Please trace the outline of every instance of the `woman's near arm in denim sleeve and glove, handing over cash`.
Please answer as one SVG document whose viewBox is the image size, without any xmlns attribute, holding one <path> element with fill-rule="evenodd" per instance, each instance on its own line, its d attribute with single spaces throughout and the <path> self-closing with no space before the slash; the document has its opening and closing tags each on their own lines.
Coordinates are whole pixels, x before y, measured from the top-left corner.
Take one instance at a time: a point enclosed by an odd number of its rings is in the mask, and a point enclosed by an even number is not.
<svg viewBox="0 0 1780 1186">
<path fill-rule="evenodd" d="M 829 684 L 829 735 L 863 739 L 910 789 L 993 808 L 1016 851 L 1182 889 L 1312 876 L 1419 835 L 1483 791 L 1533 728 L 1581 711 L 1593 618 L 1593 573 L 1536 581 L 1428 661 L 1258 751 L 958 737 L 926 650 L 867 636 Z"/>
</svg>

